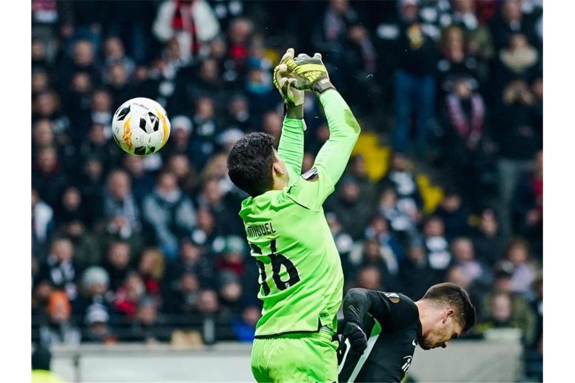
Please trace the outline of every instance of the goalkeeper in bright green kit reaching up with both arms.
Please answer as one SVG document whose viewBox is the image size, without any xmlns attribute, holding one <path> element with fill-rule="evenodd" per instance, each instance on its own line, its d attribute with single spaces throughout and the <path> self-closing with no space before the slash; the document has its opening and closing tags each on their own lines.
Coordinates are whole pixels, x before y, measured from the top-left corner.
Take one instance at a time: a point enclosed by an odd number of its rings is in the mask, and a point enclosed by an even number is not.
<svg viewBox="0 0 575 383">
<path fill-rule="evenodd" d="M 338 380 L 333 339 L 343 272 L 321 206 L 342 176 L 360 128 L 319 53 L 294 57 L 288 49 L 275 68 L 274 84 L 286 105 L 278 146 L 268 134 L 250 133 L 228 157 L 229 177 L 250 195 L 240 216 L 263 301 L 251 368 L 259 382 L 333 382 Z M 329 140 L 301 175 L 304 90 L 319 96 Z"/>
</svg>

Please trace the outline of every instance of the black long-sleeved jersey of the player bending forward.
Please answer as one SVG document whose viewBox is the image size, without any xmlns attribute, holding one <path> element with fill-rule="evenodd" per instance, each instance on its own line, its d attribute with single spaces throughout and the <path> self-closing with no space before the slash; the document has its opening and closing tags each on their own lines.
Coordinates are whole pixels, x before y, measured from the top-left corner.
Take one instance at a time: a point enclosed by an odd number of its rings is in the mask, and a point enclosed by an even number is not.
<svg viewBox="0 0 575 383">
<path fill-rule="evenodd" d="M 401 382 L 421 335 L 415 303 L 403 294 L 355 288 L 347 292 L 343 312 L 338 329 L 343 331 L 346 320 L 360 323 L 367 348 L 359 355 L 340 342 L 339 381 Z"/>
</svg>

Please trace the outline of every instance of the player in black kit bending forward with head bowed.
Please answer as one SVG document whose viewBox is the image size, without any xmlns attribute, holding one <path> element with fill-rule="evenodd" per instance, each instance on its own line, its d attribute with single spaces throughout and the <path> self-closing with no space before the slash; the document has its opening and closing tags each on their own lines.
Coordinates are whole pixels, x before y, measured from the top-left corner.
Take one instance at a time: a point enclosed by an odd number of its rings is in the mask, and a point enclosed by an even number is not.
<svg viewBox="0 0 575 383">
<path fill-rule="evenodd" d="M 403 294 L 350 289 L 343 315 L 340 382 L 400 382 L 416 345 L 444 348 L 475 324 L 469 295 L 453 283 L 432 286 L 415 303 Z"/>
</svg>

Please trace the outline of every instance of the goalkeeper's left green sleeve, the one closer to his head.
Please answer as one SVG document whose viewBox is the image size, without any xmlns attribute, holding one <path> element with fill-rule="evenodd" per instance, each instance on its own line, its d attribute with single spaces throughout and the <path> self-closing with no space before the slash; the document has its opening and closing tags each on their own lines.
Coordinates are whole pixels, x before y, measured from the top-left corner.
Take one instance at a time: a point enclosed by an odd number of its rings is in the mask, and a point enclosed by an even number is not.
<svg viewBox="0 0 575 383">
<path fill-rule="evenodd" d="M 301 164 L 304 160 L 304 124 L 303 119 L 283 119 L 278 155 L 286 163 L 290 185 L 301 175 Z"/>
</svg>

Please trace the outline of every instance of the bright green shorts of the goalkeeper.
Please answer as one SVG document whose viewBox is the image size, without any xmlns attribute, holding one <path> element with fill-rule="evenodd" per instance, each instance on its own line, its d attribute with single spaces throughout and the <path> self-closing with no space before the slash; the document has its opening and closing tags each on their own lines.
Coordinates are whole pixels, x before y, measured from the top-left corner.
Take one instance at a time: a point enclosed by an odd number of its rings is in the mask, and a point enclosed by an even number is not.
<svg viewBox="0 0 575 383">
<path fill-rule="evenodd" d="M 338 381 L 338 342 L 333 332 L 254 339 L 251 367 L 258 382 Z"/>
</svg>

